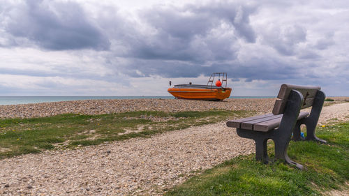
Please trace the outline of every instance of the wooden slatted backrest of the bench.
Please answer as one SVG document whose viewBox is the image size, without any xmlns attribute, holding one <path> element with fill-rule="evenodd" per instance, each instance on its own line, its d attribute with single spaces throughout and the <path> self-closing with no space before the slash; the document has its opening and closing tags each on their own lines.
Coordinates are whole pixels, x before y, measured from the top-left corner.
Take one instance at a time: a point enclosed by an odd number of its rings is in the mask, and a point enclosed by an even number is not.
<svg viewBox="0 0 349 196">
<path fill-rule="evenodd" d="M 315 95 L 318 90 L 320 90 L 320 86 L 297 86 L 292 84 L 282 84 L 278 94 L 278 99 L 275 101 L 273 109 L 274 115 L 283 114 L 287 105 L 288 96 L 290 95 L 290 92 L 292 90 L 296 90 L 299 91 L 299 93 L 302 93 L 304 98 L 304 103 L 302 105 L 303 109 L 313 105 Z"/>
</svg>

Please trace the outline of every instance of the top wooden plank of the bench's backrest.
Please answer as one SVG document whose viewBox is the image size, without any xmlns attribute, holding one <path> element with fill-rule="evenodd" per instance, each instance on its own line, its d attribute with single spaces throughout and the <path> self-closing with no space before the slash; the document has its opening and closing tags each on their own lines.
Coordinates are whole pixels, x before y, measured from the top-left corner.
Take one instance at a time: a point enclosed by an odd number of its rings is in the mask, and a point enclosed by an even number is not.
<svg viewBox="0 0 349 196">
<path fill-rule="evenodd" d="M 282 100 L 288 99 L 291 90 L 299 91 L 299 93 L 302 93 L 304 98 L 313 98 L 315 97 L 316 92 L 320 89 L 320 86 L 297 86 L 292 84 L 282 84 L 278 98 Z"/>
</svg>

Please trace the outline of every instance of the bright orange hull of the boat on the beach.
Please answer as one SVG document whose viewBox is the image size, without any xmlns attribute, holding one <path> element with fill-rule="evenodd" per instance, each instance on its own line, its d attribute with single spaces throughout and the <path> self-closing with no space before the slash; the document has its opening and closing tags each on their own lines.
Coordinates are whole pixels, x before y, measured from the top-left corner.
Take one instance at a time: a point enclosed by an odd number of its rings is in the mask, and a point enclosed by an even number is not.
<svg viewBox="0 0 349 196">
<path fill-rule="evenodd" d="M 179 99 L 196 99 L 196 100 L 223 100 L 229 98 L 232 89 L 178 89 L 170 88 L 168 92 L 175 98 Z"/>
</svg>

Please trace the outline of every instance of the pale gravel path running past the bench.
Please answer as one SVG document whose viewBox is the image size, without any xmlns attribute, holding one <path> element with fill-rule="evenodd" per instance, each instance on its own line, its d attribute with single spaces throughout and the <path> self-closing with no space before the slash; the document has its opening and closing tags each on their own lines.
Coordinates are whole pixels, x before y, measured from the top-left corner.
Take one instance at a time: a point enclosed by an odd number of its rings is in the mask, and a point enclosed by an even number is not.
<svg viewBox="0 0 349 196">
<path fill-rule="evenodd" d="M 248 105 L 241 107 L 260 107 L 244 101 Z M 349 103 L 324 107 L 319 123 L 334 116 L 349 120 L 348 115 Z M 222 121 L 146 139 L 28 154 L 0 160 L 0 195 L 161 195 L 195 170 L 254 151 L 251 140 Z"/>
</svg>

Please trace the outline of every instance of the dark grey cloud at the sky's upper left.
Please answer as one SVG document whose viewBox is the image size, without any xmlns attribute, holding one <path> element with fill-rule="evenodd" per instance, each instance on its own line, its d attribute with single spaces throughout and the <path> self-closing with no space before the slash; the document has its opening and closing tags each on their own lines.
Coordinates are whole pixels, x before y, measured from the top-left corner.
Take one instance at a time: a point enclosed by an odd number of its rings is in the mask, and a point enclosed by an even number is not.
<svg viewBox="0 0 349 196">
<path fill-rule="evenodd" d="M 109 40 L 87 20 L 79 4 L 28 0 L 8 12 L 6 31 L 47 50 L 108 50 Z"/>
</svg>

